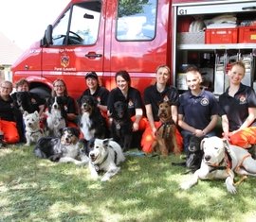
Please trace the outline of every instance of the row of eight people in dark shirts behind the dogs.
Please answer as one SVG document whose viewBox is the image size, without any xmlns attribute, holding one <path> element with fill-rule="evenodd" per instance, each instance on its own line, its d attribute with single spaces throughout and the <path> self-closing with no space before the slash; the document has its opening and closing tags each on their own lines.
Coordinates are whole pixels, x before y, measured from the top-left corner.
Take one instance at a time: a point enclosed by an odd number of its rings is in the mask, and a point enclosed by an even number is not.
<svg viewBox="0 0 256 222">
<path fill-rule="evenodd" d="M 128 105 L 128 112 L 133 121 L 133 131 L 141 132 L 140 145 L 142 151 L 151 153 L 155 141 L 155 132 L 161 125 L 158 117 L 158 104 L 169 101 L 172 115 L 177 128 L 175 136 L 180 151 L 188 150 L 192 135 L 196 137 L 210 137 L 215 135 L 214 128 L 218 117 L 221 116 L 223 137 L 232 145 L 249 148 L 256 144 L 256 94 L 254 90 L 242 83 L 246 68 L 242 61 L 232 64 L 229 70 L 229 87 L 224 94 L 216 99 L 214 94 L 201 87 L 202 76 L 194 66 L 186 71 L 186 81 L 189 90 L 178 94 L 177 89 L 169 84 L 171 71 L 166 65 L 156 68 L 155 84 L 144 90 L 143 99 L 139 91 L 131 86 L 131 77 L 125 70 L 116 76 L 117 87 L 111 91 L 100 85 L 95 72 L 85 75 L 86 89 L 76 101 L 68 95 L 63 79 L 53 82 L 53 96 L 65 96 L 68 99 L 65 106 L 68 126 L 74 127 L 80 115 L 79 106 L 83 95 L 91 95 L 98 100 L 98 107 L 102 114 L 111 122 L 111 112 L 116 101 L 123 101 Z M 29 91 L 26 79 L 16 83 L 16 90 Z M 12 83 L 2 81 L 0 85 L 0 141 L 17 143 L 22 134 L 19 126 L 21 115 L 13 107 L 15 94 Z M 38 95 L 31 94 L 31 103 L 35 111 L 39 111 L 42 119 L 46 118 L 45 101 Z"/>
</svg>

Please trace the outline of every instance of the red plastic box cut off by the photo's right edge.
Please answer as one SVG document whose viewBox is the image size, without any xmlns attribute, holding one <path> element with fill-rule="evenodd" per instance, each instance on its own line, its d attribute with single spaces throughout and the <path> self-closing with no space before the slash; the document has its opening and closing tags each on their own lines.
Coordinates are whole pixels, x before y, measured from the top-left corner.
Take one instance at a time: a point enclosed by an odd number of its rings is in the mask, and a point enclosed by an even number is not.
<svg viewBox="0 0 256 222">
<path fill-rule="evenodd" d="M 238 43 L 256 43 L 256 26 L 239 27 Z"/>
</svg>

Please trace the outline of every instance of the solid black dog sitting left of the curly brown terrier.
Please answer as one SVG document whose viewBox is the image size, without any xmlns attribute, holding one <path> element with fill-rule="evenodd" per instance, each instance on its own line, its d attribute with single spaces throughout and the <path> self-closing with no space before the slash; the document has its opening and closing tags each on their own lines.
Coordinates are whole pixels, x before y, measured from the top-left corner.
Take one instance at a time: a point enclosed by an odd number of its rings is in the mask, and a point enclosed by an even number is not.
<svg viewBox="0 0 256 222">
<path fill-rule="evenodd" d="M 133 122 L 128 114 L 128 105 L 117 101 L 114 103 L 114 109 L 111 113 L 113 119 L 111 124 L 111 134 L 123 151 L 131 148 L 133 140 Z"/>
</svg>

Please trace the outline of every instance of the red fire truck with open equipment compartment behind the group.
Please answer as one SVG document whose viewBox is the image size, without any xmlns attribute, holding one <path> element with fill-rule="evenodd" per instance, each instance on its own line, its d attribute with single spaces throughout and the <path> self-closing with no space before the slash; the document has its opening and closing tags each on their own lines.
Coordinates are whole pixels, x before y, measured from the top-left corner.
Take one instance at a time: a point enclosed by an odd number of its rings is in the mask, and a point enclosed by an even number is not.
<svg viewBox="0 0 256 222">
<path fill-rule="evenodd" d="M 244 80 L 253 86 L 255 10 L 251 0 L 71 0 L 13 64 L 13 81 L 26 77 L 33 92 L 47 95 L 63 78 L 78 97 L 87 72 L 96 71 L 111 90 L 115 73 L 127 70 L 142 93 L 155 82 L 155 68 L 167 64 L 172 84 L 184 91 L 184 68 L 194 64 L 205 86 L 222 94 L 229 63 L 245 60 Z"/>
</svg>

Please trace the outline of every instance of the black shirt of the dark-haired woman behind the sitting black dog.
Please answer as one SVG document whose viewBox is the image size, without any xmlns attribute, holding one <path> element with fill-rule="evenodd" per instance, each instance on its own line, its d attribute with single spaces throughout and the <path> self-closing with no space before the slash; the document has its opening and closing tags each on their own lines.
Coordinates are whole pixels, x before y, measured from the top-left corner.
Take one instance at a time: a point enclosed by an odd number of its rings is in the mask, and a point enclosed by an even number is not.
<svg viewBox="0 0 256 222">
<path fill-rule="evenodd" d="M 118 87 L 113 89 L 108 96 L 107 102 L 107 110 L 110 113 L 113 112 L 114 103 L 117 101 L 127 103 L 130 117 L 136 114 L 136 109 L 144 110 L 141 95 L 136 88 L 129 87 L 127 98 L 125 98 Z"/>
</svg>

